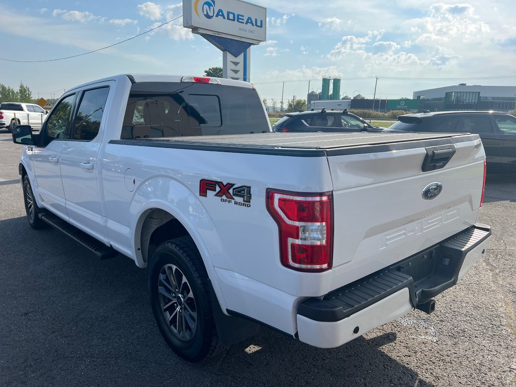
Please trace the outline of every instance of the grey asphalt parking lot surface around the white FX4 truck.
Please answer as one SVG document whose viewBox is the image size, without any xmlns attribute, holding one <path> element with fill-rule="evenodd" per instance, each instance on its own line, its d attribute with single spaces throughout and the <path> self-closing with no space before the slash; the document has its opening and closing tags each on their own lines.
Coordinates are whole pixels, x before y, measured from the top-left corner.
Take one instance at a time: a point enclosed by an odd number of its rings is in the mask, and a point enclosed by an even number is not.
<svg viewBox="0 0 516 387">
<path fill-rule="evenodd" d="M 19 156 L 0 131 L 0 386 L 516 387 L 516 176 L 488 176 L 490 248 L 431 315 L 413 311 L 334 349 L 261 328 L 190 364 L 155 326 L 145 269 L 29 227 Z"/>
</svg>

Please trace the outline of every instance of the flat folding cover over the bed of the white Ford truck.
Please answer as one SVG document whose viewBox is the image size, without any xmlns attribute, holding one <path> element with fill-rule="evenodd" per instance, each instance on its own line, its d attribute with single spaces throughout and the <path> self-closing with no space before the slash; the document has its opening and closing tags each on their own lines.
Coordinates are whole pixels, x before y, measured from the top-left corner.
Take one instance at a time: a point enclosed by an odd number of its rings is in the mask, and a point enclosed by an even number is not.
<svg viewBox="0 0 516 387">
<path fill-rule="evenodd" d="M 140 147 L 321 157 L 425 148 L 472 141 L 476 138 L 478 135 L 460 133 L 256 133 L 163 139 L 134 138 L 111 140 L 109 143 Z"/>
</svg>

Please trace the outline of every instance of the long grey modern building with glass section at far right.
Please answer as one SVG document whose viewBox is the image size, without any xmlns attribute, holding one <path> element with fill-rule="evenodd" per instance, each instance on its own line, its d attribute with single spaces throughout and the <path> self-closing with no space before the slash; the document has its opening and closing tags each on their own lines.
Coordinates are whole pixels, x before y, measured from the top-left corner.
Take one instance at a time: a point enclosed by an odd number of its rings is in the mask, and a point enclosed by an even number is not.
<svg viewBox="0 0 516 387">
<path fill-rule="evenodd" d="M 516 102 L 516 86 L 455 86 L 414 91 L 418 109 L 442 110 L 495 110 L 512 111 Z"/>
</svg>

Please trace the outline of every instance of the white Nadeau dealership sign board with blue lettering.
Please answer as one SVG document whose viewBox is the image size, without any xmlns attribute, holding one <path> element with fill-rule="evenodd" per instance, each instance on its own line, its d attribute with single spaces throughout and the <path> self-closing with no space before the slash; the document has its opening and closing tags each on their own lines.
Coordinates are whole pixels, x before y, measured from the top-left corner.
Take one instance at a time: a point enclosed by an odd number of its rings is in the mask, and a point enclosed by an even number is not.
<svg viewBox="0 0 516 387">
<path fill-rule="evenodd" d="M 241 0 L 184 0 L 183 27 L 258 44 L 266 38 L 267 9 Z"/>
</svg>

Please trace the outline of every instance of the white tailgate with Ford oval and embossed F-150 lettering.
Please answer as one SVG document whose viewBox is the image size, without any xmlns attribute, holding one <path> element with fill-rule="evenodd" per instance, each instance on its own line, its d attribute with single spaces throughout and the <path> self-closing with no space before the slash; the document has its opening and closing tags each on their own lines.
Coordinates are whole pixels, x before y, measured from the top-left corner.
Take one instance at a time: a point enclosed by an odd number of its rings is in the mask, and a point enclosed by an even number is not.
<svg viewBox="0 0 516 387">
<path fill-rule="evenodd" d="M 444 167 L 431 170 L 427 155 L 435 150 L 436 157 L 453 156 Z M 484 157 L 476 136 L 406 141 L 396 149 L 359 146 L 328 151 L 335 219 L 330 289 L 473 225 Z M 441 184 L 438 195 L 432 192 L 432 183 Z"/>
</svg>

